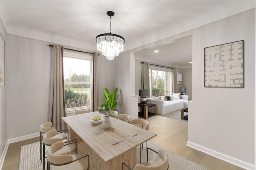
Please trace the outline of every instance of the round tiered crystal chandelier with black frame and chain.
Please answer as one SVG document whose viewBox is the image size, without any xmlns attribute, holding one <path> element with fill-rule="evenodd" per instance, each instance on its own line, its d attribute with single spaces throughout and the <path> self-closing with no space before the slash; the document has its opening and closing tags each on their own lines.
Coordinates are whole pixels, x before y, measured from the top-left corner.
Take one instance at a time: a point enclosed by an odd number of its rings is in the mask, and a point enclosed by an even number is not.
<svg viewBox="0 0 256 170">
<path fill-rule="evenodd" d="M 107 15 L 110 16 L 110 33 L 100 34 L 96 37 L 98 51 L 101 51 L 108 60 L 114 60 L 114 57 L 124 50 L 124 38 L 111 33 L 111 17 L 114 14 L 112 11 L 107 12 Z"/>
</svg>

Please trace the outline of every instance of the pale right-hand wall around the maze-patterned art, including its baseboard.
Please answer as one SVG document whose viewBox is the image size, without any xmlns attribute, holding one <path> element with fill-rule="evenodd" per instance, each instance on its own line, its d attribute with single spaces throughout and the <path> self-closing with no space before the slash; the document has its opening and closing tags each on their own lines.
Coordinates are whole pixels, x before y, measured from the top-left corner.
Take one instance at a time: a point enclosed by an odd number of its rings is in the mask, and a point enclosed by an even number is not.
<svg viewBox="0 0 256 170">
<path fill-rule="evenodd" d="M 254 169 L 255 9 L 193 31 L 188 145 Z M 204 87 L 204 47 L 244 40 L 244 88 Z"/>
</svg>

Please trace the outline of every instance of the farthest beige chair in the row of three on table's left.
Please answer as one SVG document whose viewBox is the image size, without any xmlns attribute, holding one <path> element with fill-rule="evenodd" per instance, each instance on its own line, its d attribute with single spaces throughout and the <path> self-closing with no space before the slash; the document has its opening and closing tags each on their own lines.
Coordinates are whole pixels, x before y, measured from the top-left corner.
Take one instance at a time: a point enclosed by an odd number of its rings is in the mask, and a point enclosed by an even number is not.
<svg viewBox="0 0 256 170">
<path fill-rule="evenodd" d="M 52 125 L 52 122 L 46 122 L 43 123 L 42 125 L 40 125 L 40 162 L 42 163 L 42 134 L 55 129 L 55 127 L 53 126 L 60 126 L 60 130 L 58 131 L 58 135 L 56 135 L 57 138 L 61 138 L 61 139 L 67 139 L 68 140 L 68 130 L 64 129 L 62 130 L 62 123 L 56 124 L 56 125 Z"/>
</svg>

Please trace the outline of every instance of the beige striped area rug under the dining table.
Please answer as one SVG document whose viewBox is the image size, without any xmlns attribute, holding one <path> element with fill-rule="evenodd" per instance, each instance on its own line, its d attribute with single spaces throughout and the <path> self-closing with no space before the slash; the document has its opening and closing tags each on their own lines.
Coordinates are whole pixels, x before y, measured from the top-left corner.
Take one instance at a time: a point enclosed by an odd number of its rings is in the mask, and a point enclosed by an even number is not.
<svg viewBox="0 0 256 170">
<path fill-rule="evenodd" d="M 21 147 L 20 150 L 20 164 L 19 170 L 42 170 L 43 166 L 40 164 L 40 142 L 32 143 Z M 146 143 L 142 149 L 142 162 L 146 161 Z M 158 151 L 161 147 L 154 145 L 148 141 L 148 147 Z M 166 149 L 164 151 L 169 156 L 169 170 L 207 170 L 206 168 L 191 162 L 177 154 L 174 154 Z M 85 143 L 78 143 L 78 153 L 81 155 L 90 155 L 90 170 L 101 170 L 102 159 L 98 154 L 92 151 Z M 87 161 L 87 158 L 84 159 Z M 148 160 L 150 163 L 157 165 L 162 162 L 158 154 L 149 150 Z M 137 147 L 137 164 L 140 163 L 140 147 Z M 46 166 L 47 169 L 47 166 Z"/>
</svg>

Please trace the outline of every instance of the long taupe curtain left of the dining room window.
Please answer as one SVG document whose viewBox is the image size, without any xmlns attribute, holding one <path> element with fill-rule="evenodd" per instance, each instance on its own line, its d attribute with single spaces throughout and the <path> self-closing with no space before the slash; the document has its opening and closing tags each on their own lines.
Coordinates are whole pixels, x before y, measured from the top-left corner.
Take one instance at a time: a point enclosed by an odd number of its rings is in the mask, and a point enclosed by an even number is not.
<svg viewBox="0 0 256 170">
<path fill-rule="evenodd" d="M 53 125 L 62 123 L 62 128 L 64 127 L 64 129 L 66 129 L 64 121 L 61 119 L 65 116 L 63 46 L 53 45 L 49 121 L 51 121 Z M 62 129 L 56 126 L 56 130 L 60 131 Z"/>
</svg>

